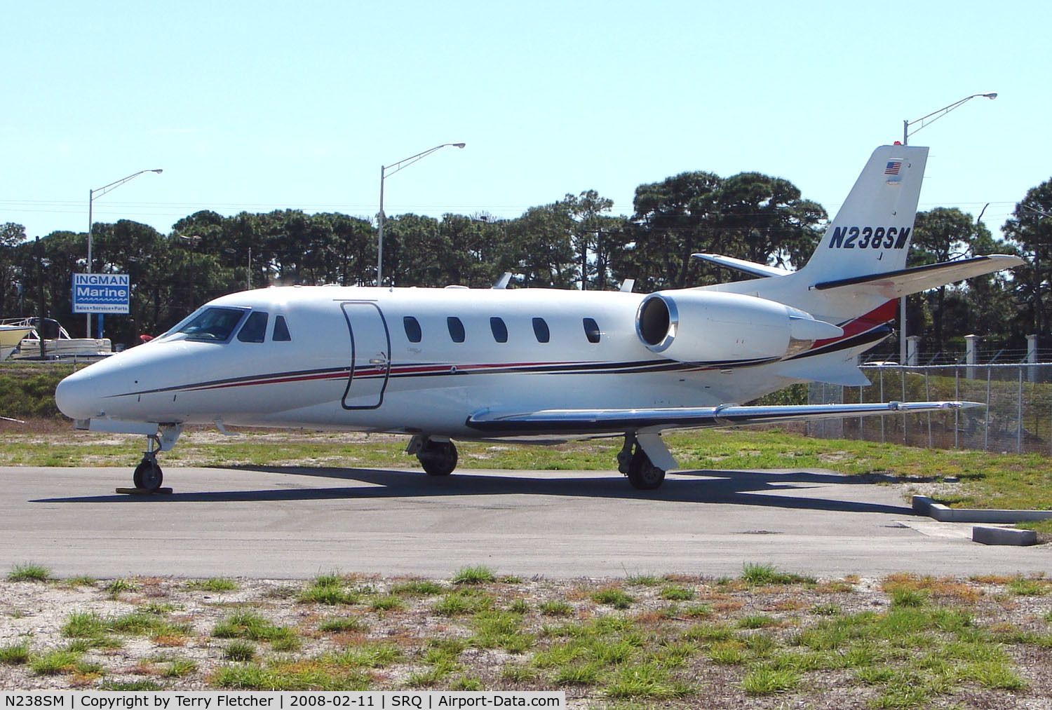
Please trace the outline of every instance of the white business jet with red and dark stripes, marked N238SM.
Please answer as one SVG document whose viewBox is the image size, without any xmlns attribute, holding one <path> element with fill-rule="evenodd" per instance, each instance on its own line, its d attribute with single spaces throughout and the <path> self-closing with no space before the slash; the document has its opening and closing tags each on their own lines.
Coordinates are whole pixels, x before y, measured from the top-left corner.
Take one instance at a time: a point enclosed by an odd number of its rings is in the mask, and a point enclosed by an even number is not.
<svg viewBox="0 0 1052 710">
<path fill-rule="evenodd" d="M 928 148 L 878 147 L 797 271 L 695 255 L 758 277 L 649 295 L 555 289 L 271 287 L 211 301 L 145 345 L 63 380 L 59 408 L 140 433 L 137 488 L 187 424 L 404 433 L 431 475 L 451 440 L 623 435 L 619 469 L 656 488 L 661 432 L 929 411 L 960 402 L 744 406 L 803 381 L 862 386 L 895 299 L 1021 263 L 906 267 Z"/>
</svg>

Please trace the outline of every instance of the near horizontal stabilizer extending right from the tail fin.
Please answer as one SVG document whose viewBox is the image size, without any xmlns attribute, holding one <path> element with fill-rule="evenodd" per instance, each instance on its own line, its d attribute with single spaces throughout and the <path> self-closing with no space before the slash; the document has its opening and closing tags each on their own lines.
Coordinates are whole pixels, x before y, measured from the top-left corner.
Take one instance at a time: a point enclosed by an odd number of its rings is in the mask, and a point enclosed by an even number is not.
<svg viewBox="0 0 1052 710">
<path fill-rule="evenodd" d="M 945 261 L 938 264 L 914 266 L 884 273 L 823 281 L 816 283 L 817 290 L 847 288 L 852 291 L 865 291 L 886 299 L 897 299 L 910 293 L 919 293 L 929 288 L 938 288 L 984 273 L 991 273 L 1006 268 L 1012 268 L 1024 263 L 1018 257 L 994 253 L 986 257 L 973 257 L 957 261 Z"/>
</svg>

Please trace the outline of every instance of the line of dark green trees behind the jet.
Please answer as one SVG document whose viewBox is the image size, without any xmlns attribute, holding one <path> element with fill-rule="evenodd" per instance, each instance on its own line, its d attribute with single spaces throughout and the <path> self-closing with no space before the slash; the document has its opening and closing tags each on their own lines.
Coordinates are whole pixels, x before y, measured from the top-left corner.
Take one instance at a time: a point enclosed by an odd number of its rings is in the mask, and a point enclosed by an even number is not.
<svg viewBox="0 0 1052 710">
<path fill-rule="evenodd" d="M 384 285 L 487 287 L 504 272 L 510 287 L 636 291 L 746 278 L 691 259 L 723 253 L 789 267 L 803 265 L 828 221 L 822 205 L 788 180 L 742 173 L 683 173 L 640 185 L 631 216 L 612 216 L 595 190 L 530 207 L 514 219 L 488 215 L 387 218 Z M 918 212 L 909 265 L 977 253 L 1014 253 L 1013 272 L 972 279 L 911 297 L 908 334 L 926 352 L 963 349 L 966 334 L 1021 349 L 1026 336 L 1049 343 L 1052 284 L 1052 180 L 1034 187 L 994 238 L 971 215 L 937 207 Z M 96 272 L 127 273 L 130 312 L 105 320 L 115 343 L 159 334 L 202 303 L 275 284 L 375 285 L 377 225 L 366 218 L 284 209 L 225 217 L 203 210 L 164 235 L 128 220 L 93 226 Z M 73 275 L 86 270 L 84 232 L 27 239 L 0 225 L 0 317 L 42 313 L 83 334 L 72 316 Z"/>
</svg>

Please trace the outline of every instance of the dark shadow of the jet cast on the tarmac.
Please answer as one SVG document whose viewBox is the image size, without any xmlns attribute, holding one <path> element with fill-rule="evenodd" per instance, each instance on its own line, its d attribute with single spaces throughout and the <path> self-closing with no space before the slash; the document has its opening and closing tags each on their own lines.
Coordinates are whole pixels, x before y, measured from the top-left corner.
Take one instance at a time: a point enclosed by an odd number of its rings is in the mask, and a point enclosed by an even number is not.
<svg viewBox="0 0 1052 710">
<path fill-rule="evenodd" d="M 283 476 L 279 488 L 258 490 L 223 490 L 207 492 L 174 492 L 159 495 L 105 494 L 90 496 L 54 498 L 32 503 L 200 503 L 200 502 L 268 502 L 311 500 L 380 500 L 442 498 L 464 495 L 559 495 L 571 498 L 652 500 L 669 503 L 716 503 L 749 505 L 801 510 L 827 510 L 843 512 L 876 512 L 911 515 L 912 510 L 903 505 L 886 505 L 859 501 L 842 501 L 811 496 L 809 488 L 827 486 L 858 486 L 872 484 L 873 478 L 850 476 L 808 471 L 755 472 L 755 471 L 676 471 L 666 479 L 661 488 L 640 491 L 631 488 L 624 476 L 596 472 L 593 475 L 576 473 L 565 478 L 544 478 L 528 474 L 486 475 L 467 469 L 448 478 L 426 475 L 414 470 L 366 468 L 305 468 L 297 466 L 237 466 L 230 470 L 270 473 Z M 681 476 L 696 476 L 695 480 Z M 285 478 L 287 476 L 287 478 Z M 356 481 L 365 486 L 312 487 L 311 479 Z M 169 476 L 178 486 L 178 472 Z M 166 482 L 167 483 L 167 482 Z M 290 487 L 295 486 L 295 487 Z M 775 491 L 793 491 L 777 494 Z M 828 489 L 827 489 L 828 490 Z"/>
</svg>

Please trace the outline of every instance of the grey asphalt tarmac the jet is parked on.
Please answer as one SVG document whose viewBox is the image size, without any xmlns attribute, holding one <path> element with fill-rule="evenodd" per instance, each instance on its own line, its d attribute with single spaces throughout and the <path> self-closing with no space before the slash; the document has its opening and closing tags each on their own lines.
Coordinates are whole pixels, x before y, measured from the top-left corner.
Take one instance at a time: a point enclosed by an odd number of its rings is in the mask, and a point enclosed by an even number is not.
<svg viewBox="0 0 1052 710">
<path fill-rule="evenodd" d="M 638 491 L 602 471 L 0 467 L 0 571 L 58 576 L 309 579 L 339 571 L 736 576 L 744 563 L 823 577 L 1052 569 L 1052 545 L 987 547 L 913 514 L 898 485 L 822 470 L 670 473 Z"/>
</svg>

